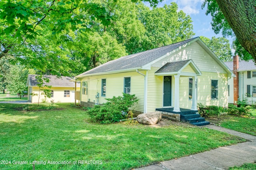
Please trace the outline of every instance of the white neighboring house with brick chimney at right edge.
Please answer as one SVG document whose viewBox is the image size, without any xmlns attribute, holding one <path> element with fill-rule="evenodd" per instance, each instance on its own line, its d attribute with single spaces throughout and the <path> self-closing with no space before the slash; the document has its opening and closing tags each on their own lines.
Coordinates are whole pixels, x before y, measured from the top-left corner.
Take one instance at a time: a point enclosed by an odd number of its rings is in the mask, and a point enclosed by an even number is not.
<svg viewBox="0 0 256 170">
<path fill-rule="evenodd" d="M 256 102 L 256 66 L 253 60 L 239 60 L 233 57 L 232 62 L 224 62 L 236 75 L 228 79 L 228 103 L 247 100 L 247 104 Z"/>
</svg>

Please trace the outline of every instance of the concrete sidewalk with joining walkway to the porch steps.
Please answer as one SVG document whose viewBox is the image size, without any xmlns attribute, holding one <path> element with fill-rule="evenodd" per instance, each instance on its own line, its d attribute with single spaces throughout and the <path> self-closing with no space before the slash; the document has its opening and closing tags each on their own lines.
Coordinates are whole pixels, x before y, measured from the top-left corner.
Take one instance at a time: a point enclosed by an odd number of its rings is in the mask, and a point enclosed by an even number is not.
<svg viewBox="0 0 256 170">
<path fill-rule="evenodd" d="M 239 136 L 245 138 L 248 142 L 224 146 L 178 158 L 177 160 L 168 160 L 160 162 L 159 164 L 137 168 L 135 170 L 226 170 L 229 167 L 256 162 L 256 136 L 211 124 L 202 127 Z"/>
</svg>

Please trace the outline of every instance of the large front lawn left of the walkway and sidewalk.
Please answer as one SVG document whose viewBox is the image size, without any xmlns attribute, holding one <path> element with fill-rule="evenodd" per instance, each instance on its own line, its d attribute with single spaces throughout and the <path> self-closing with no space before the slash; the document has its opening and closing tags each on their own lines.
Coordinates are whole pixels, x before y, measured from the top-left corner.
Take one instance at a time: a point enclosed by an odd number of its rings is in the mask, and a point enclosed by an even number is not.
<svg viewBox="0 0 256 170">
<path fill-rule="evenodd" d="M 128 170 L 245 141 L 186 124 L 93 124 L 81 108 L 55 105 L 56 110 L 24 112 L 22 104 L 0 104 L 0 160 L 46 161 L 36 170 Z M 32 165 L 0 164 L 0 169 L 31 170 Z"/>
</svg>

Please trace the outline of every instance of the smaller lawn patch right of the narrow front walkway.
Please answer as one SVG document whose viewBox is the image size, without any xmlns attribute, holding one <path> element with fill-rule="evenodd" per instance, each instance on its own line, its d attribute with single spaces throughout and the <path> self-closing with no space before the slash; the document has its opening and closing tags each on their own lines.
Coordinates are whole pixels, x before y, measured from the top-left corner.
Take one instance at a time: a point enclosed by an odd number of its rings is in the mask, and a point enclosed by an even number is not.
<svg viewBox="0 0 256 170">
<path fill-rule="evenodd" d="M 231 115 L 220 115 L 218 117 L 206 118 L 211 123 L 222 126 L 224 128 L 236 130 L 246 134 L 256 136 L 256 110 L 252 111 L 251 118 L 243 118 Z"/>
</svg>

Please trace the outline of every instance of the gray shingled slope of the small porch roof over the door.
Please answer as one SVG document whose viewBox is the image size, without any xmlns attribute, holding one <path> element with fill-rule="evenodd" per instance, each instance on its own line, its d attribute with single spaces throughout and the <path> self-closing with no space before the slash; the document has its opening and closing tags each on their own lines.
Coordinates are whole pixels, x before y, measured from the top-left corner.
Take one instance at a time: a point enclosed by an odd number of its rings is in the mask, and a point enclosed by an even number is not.
<svg viewBox="0 0 256 170">
<path fill-rule="evenodd" d="M 183 60 L 177 62 L 168 62 L 164 64 L 156 73 L 165 73 L 165 72 L 178 72 L 183 66 L 185 66 L 190 60 Z"/>
</svg>

